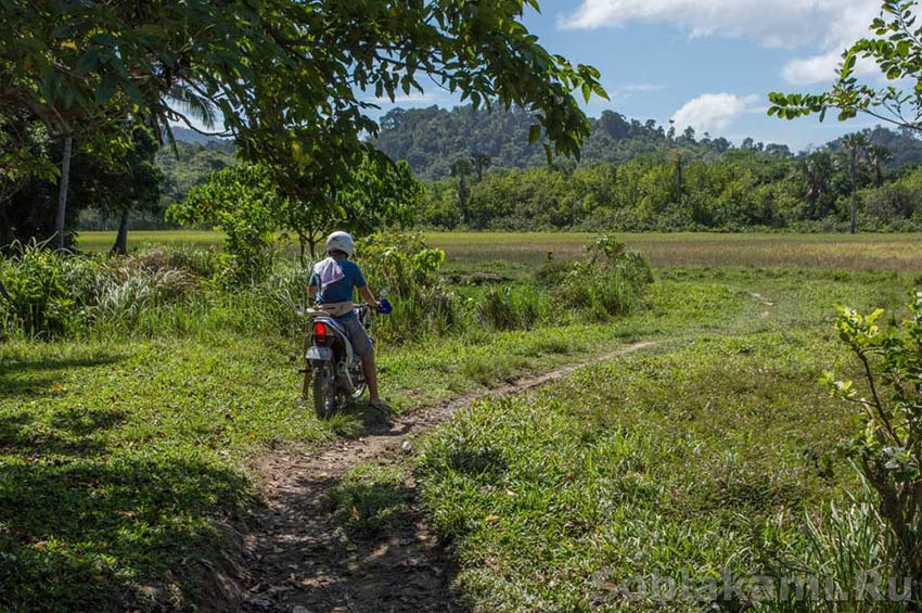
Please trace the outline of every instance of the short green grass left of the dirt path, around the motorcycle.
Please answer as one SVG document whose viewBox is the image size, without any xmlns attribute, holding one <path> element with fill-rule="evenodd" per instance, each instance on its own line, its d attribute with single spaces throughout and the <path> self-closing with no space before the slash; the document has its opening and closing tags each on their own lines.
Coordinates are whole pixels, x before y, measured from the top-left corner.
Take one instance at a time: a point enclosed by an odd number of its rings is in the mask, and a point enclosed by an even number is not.
<svg viewBox="0 0 922 613">
<path fill-rule="evenodd" d="M 646 325 L 383 347 L 385 397 L 411 410 L 567 363 L 568 353 L 588 359 Z M 187 606 L 200 561 L 226 545 L 221 526 L 254 509 L 255 457 L 363 432 L 361 416 L 321 423 L 298 399 L 295 340 L 220 330 L 0 344 L 0 608 Z"/>
</svg>

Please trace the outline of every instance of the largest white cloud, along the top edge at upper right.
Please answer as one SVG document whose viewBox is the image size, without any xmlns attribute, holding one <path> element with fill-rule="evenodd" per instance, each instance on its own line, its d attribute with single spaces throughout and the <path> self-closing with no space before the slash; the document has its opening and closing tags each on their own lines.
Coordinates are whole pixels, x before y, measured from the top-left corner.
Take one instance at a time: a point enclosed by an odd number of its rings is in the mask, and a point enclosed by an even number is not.
<svg viewBox="0 0 922 613">
<path fill-rule="evenodd" d="M 782 68 L 792 85 L 811 85 L 835 76 L 841 52 L 868 34 L 880 8 L 880 0 L 582 0 L 560 25 L 588 29 L 639 21 L 674 25 L 691 37 L 748 38 L 785 49 L 814 46 L 818 53 Z"/>
</svg>

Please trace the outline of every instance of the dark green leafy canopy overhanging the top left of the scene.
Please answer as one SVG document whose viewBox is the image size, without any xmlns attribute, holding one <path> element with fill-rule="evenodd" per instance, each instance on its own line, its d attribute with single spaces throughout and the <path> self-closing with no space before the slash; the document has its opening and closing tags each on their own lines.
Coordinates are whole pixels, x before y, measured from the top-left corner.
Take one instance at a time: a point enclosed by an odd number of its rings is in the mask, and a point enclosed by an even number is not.
<svg viewBox="0 0 922 613">
<path fill-rule="evenodd" d="M 335 184 L 377 133 L 369 93 L 393 101 L 426 77 L 474 105 L 523 106 L 548 156 L 578 155 L 589 135 L 572 93 L 605 97 L 598 71 L 549 53 L 522 25 L 537 0 L 0 5 L 0 104 L 64 139 L 62 205 L 74 126 L 113 115 L 167 138 L 170 123 L 220 119 L 246 158 L 295 156 L 309 167 L 300 176 Z"/>
</svg>

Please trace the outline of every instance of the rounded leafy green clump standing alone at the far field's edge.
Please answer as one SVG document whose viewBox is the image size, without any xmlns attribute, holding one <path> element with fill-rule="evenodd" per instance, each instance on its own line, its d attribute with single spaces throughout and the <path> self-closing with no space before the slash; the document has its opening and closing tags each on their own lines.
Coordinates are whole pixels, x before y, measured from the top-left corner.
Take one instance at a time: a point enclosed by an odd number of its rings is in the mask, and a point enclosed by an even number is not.
<svg viewBox="0 0 922 613">
<path fill-rule="evenodd" d="M 561 305 L 604 320 L 633 311 L 652 282 L 653 271 L 643 255 L 602 237 L 589 245 L 586 261 L 559 274 L 553 292 Z"/>
</svg>

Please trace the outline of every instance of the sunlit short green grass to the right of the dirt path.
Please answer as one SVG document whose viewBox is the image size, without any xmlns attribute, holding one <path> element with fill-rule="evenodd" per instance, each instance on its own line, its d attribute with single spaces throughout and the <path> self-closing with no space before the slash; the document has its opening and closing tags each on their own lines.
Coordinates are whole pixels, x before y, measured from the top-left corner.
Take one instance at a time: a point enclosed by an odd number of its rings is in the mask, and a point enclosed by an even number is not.
<svg viewBox="0 0 922 613">
<path fill-rule="evenodd" d="M 804 547 L 805 513 L 841 502 L 842 486 L 855 485 L 828 456 L 851 432 L 853 409 L 817 383 L 825 368 L 853 368 L 830 329 L 830 304 L 896 308 L 910 280 L 664 274 L 669 297 L 639 322 L 668 319 L 683 299 L 717 288 L 720 304 L 733 303 L 727 294 L 763 298 L 742 317 L 718 307 L 710 322 L 675 328 L 657 348 L 540 392 L 479 403 L 423 446 L 425 507 L 452 544 L 456 588 L 475 610 L 658 609 L 614 590 L 629 577 L 768 572 L 766 560 L 791 553 L 779 542 Z"/>
</svg>

